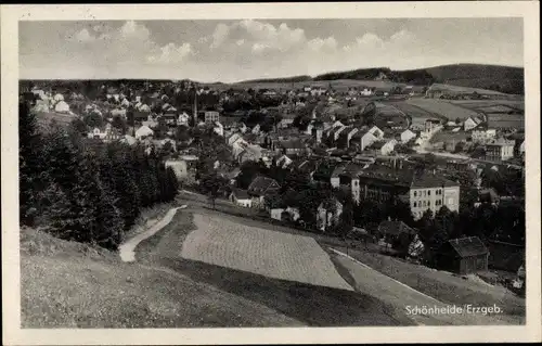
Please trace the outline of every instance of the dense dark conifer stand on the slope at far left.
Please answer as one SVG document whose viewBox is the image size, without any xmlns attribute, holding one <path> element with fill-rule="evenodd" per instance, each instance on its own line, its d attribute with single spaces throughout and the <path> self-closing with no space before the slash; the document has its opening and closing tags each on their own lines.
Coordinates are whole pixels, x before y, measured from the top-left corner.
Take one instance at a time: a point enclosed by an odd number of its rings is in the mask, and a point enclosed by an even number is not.
<svg viewBox="0 0 542 346">
<path fill-rule="evenodd" d="M 18 111 L 22 225 L 115 249 L 142 208 L 177 195 L 158 153 L 86 139 L 74 127 L 42 132 L 27 103 Z"/>
</svg>

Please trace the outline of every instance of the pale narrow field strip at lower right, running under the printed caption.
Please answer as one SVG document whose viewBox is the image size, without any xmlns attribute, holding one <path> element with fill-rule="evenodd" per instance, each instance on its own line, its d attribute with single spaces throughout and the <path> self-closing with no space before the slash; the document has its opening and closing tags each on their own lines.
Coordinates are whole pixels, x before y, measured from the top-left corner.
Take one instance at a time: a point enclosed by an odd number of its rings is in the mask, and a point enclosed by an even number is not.
<svg viewBox="0 0 542 346">
<path fill-rule="evenodd" d="M 332 249 L 337 256 L 336 262 L 346 269 L 353 280 L 352 285 L 360 293 L 374 296 L 384 303 L 387 303 L 396 308 L 399 313 L 405 313 L 409 318 L 420 325 L 495 325 L 509 324 L 505 316 L 500 315 L 482 315 L 482 312 L 472 313 L 453 313 L 450 310 L 452 305 L 439 302 L 420 291 L 416 291 L 392 278 L 389 278 L 371 267 L 351 258 L 350 256 Z M 414 310 L 433 308 L 433 313 L 422 313 Z M 466 306 L 455 306 L 466 309 Z M 446 312 L 444 310 L 448 310 Z M 415 311 L 415 313 L 414 313 Z"/>
</svg>

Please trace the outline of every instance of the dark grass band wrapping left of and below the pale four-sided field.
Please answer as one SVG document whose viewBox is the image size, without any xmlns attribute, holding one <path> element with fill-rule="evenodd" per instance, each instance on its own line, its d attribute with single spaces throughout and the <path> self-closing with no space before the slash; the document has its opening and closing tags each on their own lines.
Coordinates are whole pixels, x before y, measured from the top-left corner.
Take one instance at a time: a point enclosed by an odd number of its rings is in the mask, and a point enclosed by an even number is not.
<svg viewBox="0 0 542 346">
<path fill-rule="evenodd" d="M 351 290 L 280 280 L 249 271 L 182 258 L 180 256 L 182 244 L 195 230 L 192 213 L 218 215 L 223 220 L 243 220 L 218 212 L 189 207 L 189 209 L 178 213 L 171 225 L 138 246 L 138 261 L 145 264 L 145 266 L 168 268 L 168 270 L 186 275 L 196 282 L 209 284 L 217 290 L 267 306 L 271 311 L 280 311 L 280 313 L 291 317 L 292 321 L 300 321 L 305 325 L 414 324 L 404 313 L 397 313 L 395 309 L 377 298 Z M 255 220 L 247 221 L 257 222 Z M 240 310 L 238 313 L 245 315 L 243 310 Z M 258 323 L 259 317 L 255 316 L 254 320 L 255 324 Z M 293 322 L 291 325 L 298 325 L 298 322 L 296 323 Z"/>
</svg>

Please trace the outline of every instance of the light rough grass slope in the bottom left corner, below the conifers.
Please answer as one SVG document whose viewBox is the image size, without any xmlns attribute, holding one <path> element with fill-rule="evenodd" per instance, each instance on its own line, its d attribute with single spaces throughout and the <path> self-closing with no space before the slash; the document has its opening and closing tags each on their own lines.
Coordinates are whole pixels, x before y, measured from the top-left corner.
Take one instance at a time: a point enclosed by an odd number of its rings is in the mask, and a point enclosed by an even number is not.
<svg viewBox="0 0 542 346">
<path fill-rule="evenodd" d="M 23 328 L 305 325 L 283 313 L 164 268 L 21 231 Z"/>
</svg>

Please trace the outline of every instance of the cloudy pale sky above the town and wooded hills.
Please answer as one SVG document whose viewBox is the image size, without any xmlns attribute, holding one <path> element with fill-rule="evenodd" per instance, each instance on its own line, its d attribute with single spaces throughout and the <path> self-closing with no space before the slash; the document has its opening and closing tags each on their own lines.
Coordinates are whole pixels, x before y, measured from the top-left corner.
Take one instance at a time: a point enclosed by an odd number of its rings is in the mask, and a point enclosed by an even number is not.
<svg viewBox="0 0 542 346">
<path fill-rule="evenodd" d="M 20 22 L 24 79 L 233 82 L 365 67 L 524 65 L 521 18 Z"/>
</svg>

